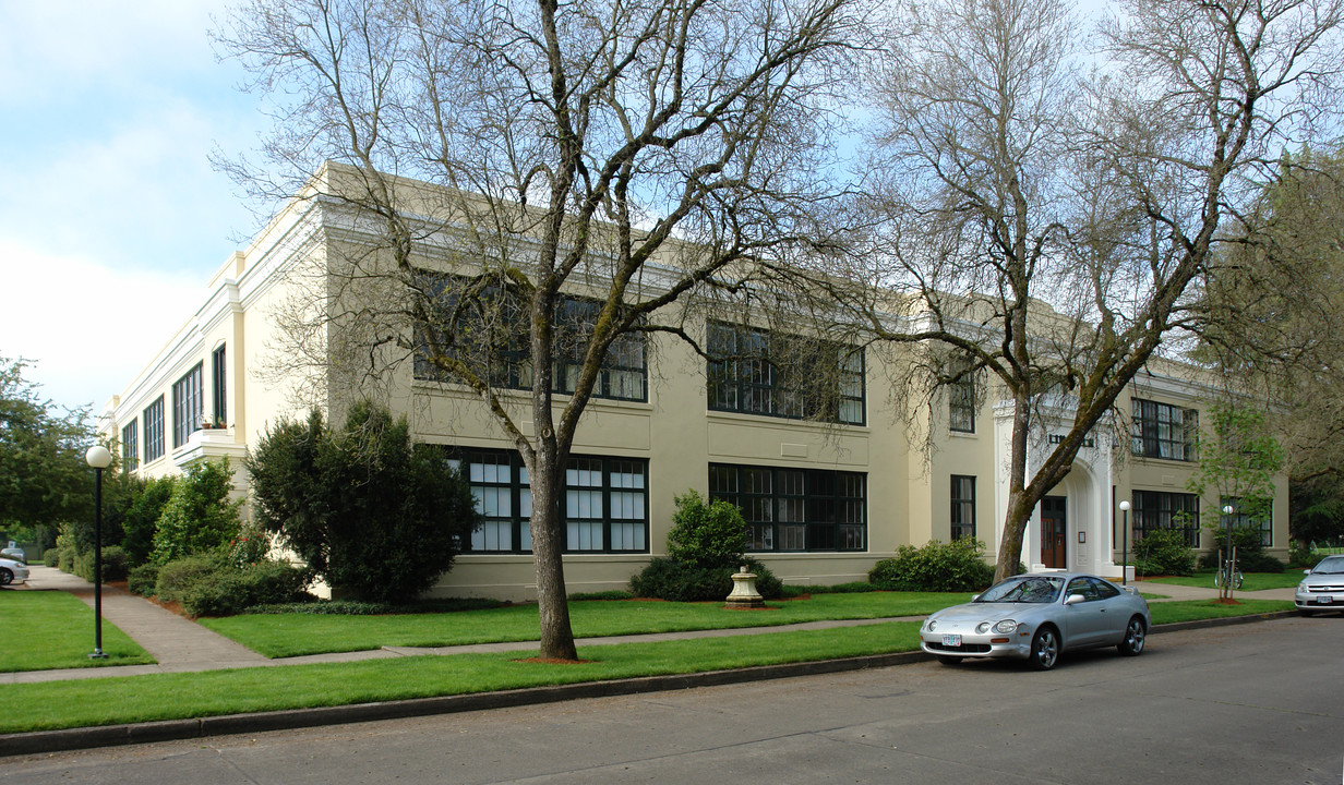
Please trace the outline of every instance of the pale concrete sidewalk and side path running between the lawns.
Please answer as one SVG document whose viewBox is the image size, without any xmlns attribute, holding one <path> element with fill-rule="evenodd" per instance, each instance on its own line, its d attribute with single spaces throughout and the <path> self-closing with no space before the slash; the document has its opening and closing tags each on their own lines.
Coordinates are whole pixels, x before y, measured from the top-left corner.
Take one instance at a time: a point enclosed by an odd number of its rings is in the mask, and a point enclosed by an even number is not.
<svg viewBox="0 0 1344 785">
<path fill-rule="evenodd" d="M 19 591 L 60 590 L 70 591 L 93 606 L 93 583 L 62 573 L 54 567 L 43 565 L 30 566 L 32 575 L 26 586 L 16 586 Z M 1140 591 L 1146 594 L 1163 594 L 1169 601 L 1176 600 L 1211 600 L 1218 597 L 1218 590 L 1212 586 L 1173 586 L 1167 583 L 1134 583 Z M 1238 591 L 1238 597 L 1257 600 L 1293 600 L 1292 589 L 1271 589 L 1267 591 Z M 1163 602 L 1163 600 L 1154 600 Z M 348 663 L 356 660 L 376 660 L 390 657 L 409 657 L 418 655 L 460 655 L 480 652 L 526 652 L 535 651 L 536 641 L 516 641 L 500 644 L 476 644 L 462 647 L 383 647 L 380 649 L 364 652 L 335 652 L 328 655 L 310 655 L 301 657 L 267 659 L 257 652 L 237 644 L 224 636 L 212 632 L 194 621 L 183 618 L 176 613 L 165 610 L 153 602 L 120 589 L 103 586 L 102 589 L 102 617 L 105 624 L 116 625 L 121 632 L 130 636 L 157 660 L 153 665 L 102 665 L 90 668 L 66 668 L 59 671 L 26 671 L 19 673 L 0 673 L 0 684 L 22 684 L 34 681 L 58 681 L 65 679 L 99 679 L 108 676 L 137 676 L 142 673 L 175 673 L 192 671 L 215 671 L 224 668 L 271 667 L 271 665 L 298 665 L 308 663 Z M 751 626 L 735 629 L 710 629 L 675 633 L 653 633 L 636 636 L 612 636 L 579 638 L 581 645 L 603 645 L 617 643 L 655 643 L 669 640 L 684 640 L 694 637 L 724 637 L 743 634 L 767 634 L 774 632 L 802 630 L 802 629 L 829 629 L 844 626 L 862 626 L 868 624 L 884 624 L 888 621 L 915 621 L 923 617 L 894 617 L 894 618 L 862 618 L 841 621 L 812 621 L 784 626 Z"/>
</svg>

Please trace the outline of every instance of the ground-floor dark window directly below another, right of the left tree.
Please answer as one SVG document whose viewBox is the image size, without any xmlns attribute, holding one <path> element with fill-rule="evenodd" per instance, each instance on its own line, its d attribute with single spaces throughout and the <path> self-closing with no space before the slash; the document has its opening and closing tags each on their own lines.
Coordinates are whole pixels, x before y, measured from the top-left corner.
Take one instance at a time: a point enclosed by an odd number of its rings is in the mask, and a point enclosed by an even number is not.
<svg viewBox="0 0 1344 785">
<path fill-rule="evenodd" d="M 753 551 L 862 551 L 867 476 L 710 464 L 710 497 L 742 509 Z"/>
</svg>

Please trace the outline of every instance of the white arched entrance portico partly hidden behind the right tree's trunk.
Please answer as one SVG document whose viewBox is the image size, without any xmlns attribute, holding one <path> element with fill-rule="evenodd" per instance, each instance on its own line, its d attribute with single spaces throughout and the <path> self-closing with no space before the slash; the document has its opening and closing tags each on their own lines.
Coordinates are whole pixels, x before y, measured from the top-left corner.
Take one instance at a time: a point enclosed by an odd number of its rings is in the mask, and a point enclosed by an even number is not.
<svg viewBox="0 0 1344 785">
<path fill-rule="evenodd" d="M 1055 449 L 1073 422 L 1073 407 L 1059 401 L 1056 406 L 1036 410 L 1036 422 L 1027 440 L 1027 477 L 1040 468 L 1042 461 Z M 1062 507 L 1063 547 L 1043 538 L 1042 504 L 1032 511 L 1023 536 L 1021 562 L 1030 571 L 1067 569 L 1091 573 L 1103 578 L 1120 578 L 1120 565 L 1114 561 L 1111 531 L 1114 512 L 1111 504 L 1114 440 L 1105 427 L 1097 427 L 1074 458 L 1073 470 L 1055 485 L 1048 496 L 1051 508 Z M 1012 446 L 1012 403 L 995 407 L 995 548 L 1003 540 L 1003 522 L 1008 513 L 1008 466 Z M 1059 511 L 1050 516 L 1059 526 Z M 1056 530 L 1058 531 L 1058 530 Z M 1052 555 L 1060 562 L 1050 565 Z"/>
</svg>

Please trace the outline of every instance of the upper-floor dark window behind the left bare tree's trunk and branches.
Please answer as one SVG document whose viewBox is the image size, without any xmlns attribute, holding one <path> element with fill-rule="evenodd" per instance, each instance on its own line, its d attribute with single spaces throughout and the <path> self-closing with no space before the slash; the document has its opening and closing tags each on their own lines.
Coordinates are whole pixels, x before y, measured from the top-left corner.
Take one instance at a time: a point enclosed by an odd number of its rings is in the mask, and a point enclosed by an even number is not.
<svg viewBox="0 0 1344 785">
<path fill-rule="evenodd" d="M 454 380 L 430 362 L 433 352 L 460 360 L 491 384 L 531 390 L 534 370 L 528 348 L 527 311 L 497 286 L 485 286 L 464 302 L 465 278 L 425 272 L 422 282 L 433 301 L 427 320 L 417 328 L 415 378 Z M 460 305 L 461 304 L 461 305 Z M 574 392 L 587 355 L 593 325 L 602 311 L 595 300 L 560 296 L 555 306 L 555 345 L 551 388 Z M 642 333 L 618 336 L 606 349 L 593 384 L 595 398 L 648 401 L 648 363 Z"/>
</svg>

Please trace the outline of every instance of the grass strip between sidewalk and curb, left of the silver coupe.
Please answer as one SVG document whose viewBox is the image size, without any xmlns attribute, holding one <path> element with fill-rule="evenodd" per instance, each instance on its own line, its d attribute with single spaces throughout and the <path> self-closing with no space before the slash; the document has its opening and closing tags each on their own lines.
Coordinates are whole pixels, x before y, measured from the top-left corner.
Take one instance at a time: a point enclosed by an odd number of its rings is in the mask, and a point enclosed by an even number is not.
<svg viewBox="0 0 1344 785">
<path fill-rule="evenodd" d="M 8 684 L 4 690 L 8 708 L 0 714 L 0 733 L 698 673 L 918 648 L 918 622 L 888 622 L 759 636 L 581 647 L 579 657 L 591 661 L 563 665 L 520 661 L 535 652 L 511 652 Z"/>
</svg>

